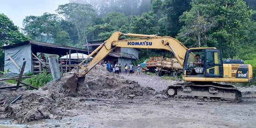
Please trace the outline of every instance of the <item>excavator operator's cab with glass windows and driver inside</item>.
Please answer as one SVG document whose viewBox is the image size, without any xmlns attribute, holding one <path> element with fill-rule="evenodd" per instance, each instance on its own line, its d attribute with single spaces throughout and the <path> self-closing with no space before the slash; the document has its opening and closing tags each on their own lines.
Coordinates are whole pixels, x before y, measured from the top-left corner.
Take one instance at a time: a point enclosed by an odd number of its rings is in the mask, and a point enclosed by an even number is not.
<svg viewBox="0 0 256 128">
<path fill-rule="evenodd" d="M 223 77 L 222 56 L 216 48 L 191 48 L 184 60 L 186 77 Z"/>
</svg>

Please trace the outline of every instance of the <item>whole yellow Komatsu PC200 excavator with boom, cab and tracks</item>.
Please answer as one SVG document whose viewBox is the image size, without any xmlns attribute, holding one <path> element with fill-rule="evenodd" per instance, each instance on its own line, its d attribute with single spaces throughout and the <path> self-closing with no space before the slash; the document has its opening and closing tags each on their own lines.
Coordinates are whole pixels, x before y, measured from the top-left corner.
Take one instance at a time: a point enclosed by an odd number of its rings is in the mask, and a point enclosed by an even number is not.
<svg viewBox="0 0 256 128">
<path fill-rule="evenodd" d="M 133 38 L 119 40 L 121 36 Z M 165 91 L 169 97 L 237 102 L 241 100 L 241 92 L 231 85 L 218 82 L 250 82 L 253 78 L 250 64 L 241 64 L 239 61 L 223 64 L 222 55 L 215 47 L 188 49 L 173 37 L 115 32 L 88 55 L 90 58 L 97 53 L 88 66 L 82 65 L 87 59 L 78 64 L 77 73 L 67 80 L 65 87 L 75 93 L 79 82 L 84 82 L 85 75 L 116 47 L 165 49 L 172 52 L 183 66 L 183 80 L 186 83 L 170 85 Z M 82 73 L 79 73 L 81 69 Z"/>
</svg>

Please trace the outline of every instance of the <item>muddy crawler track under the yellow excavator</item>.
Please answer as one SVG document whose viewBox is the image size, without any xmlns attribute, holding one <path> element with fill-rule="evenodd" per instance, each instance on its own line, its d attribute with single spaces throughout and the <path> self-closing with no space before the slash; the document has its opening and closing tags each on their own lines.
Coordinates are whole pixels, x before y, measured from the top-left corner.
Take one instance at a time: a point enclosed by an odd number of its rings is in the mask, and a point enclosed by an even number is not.
<svg viewBox="0 0 256 128">
<path fill-rule="evenodd" d="M 169 86 L 165 94 L 178 100 L 239 102 L 241 92 L 227 84 L 180 83 Z"/>
</svg>

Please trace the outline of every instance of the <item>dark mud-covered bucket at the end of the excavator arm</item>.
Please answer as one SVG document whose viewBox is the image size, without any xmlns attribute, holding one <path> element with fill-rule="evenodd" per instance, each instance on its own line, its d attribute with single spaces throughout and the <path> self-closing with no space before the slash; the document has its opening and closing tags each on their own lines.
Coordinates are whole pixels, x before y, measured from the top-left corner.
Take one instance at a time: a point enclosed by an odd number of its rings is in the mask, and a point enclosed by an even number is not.
<svg viewBox="0 0 256 128">
<path fill-rule="evenodd" d="M 67 79 L 67 82 L 64 84 L 71 92 L 76 93 L 79 82 L 84 82 L 85 77 L 79 77 L 77 74 L 74 74 L 72 77 Z"/>
</svg>

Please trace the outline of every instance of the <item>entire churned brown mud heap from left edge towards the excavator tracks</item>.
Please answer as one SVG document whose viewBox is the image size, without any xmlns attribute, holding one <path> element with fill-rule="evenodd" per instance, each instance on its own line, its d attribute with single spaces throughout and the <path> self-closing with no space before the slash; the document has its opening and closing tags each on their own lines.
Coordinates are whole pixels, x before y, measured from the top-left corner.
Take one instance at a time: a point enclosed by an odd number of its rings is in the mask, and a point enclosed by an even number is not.
<svg viewBox="0 0 256 128">
<path fill-rule="evenodd" d="M 128 98 L 147 97 L 156 95 L 156 91 L 149 87 L 142 87 L 137 82 L 129 81 L 117 74 L 109 73 L 101 65 L 97 65 L 86 75 L 85 82 L 78 87 L 75 97 L 64 88 L 64 83 L 73 74 L 64 74 L 61 80 L 47 83 L 39 90 L 1 91 L 0 97 L 6 98 L 10 94 L 22 94 L 22 99 L 11 105 L 0 107 L 3 118 L 15 119 L 18 123 L 25 123 L 41 119 L 61 119 L 75 116 L 72 109 L 91 109 L 84 98 Z M 5 92 L 5 93 L 2 93 Z"/>
</svg>

